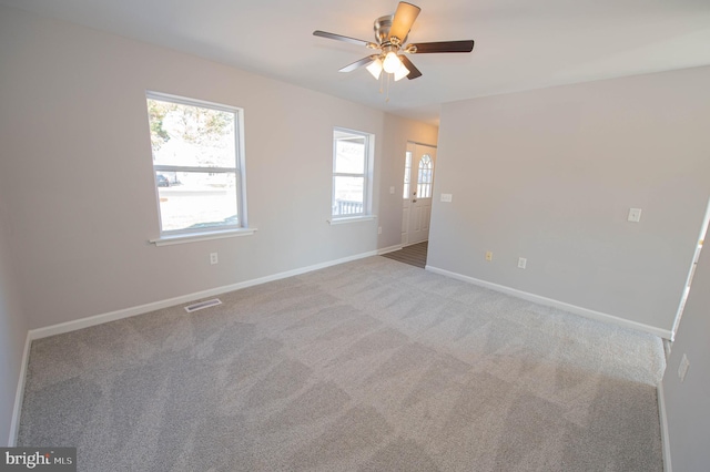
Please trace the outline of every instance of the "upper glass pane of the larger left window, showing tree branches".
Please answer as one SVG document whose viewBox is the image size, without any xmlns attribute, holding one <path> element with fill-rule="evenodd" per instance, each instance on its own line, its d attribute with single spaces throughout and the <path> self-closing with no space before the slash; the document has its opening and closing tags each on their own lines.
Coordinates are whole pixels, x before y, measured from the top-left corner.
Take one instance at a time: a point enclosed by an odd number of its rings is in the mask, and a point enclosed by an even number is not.
<svg viewBox="0 0 710 472">
<path fill-rule="evenodd" d="M 148 99 L 153 164 L 235 167 L 235 113 Z"/>
</svg>

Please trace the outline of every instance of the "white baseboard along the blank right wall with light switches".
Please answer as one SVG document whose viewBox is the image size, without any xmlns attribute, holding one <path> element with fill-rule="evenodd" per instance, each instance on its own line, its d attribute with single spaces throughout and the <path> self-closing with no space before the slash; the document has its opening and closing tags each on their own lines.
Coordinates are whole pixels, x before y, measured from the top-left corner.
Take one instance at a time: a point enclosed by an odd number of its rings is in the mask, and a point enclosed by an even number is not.
<svg viewBox="0 0 710 472">
<path fill-rule="evenodd" d="M 545 305 L 552 308 L 559 308 L 565 311 L 569 311 L 575 315 L 584 316 L 586 318 L 595 319 L 598 321 L 609 322 L 617 326 L 622 326 L 625 328 L 636 329 L 638 331 L 648 332 L 655 336 L 658 336 L 663 339 L 671 339 L 672 332 L 669 329 L 661 329 L 655 326 L 645 325 L 642 322 L 631 321 L 629 319 L 619 318 L 613 315 L 604 314 L 601 311 L 590 310 L 588 308 L 578 307 L 576 305 L 570 305 L 565 301 L 555 300 L 552 298 L 542 297 L 539 295 L 530 294 L 527 291 L 518 290 L 516 288 L 506 287 L 504 285 L 494 284 L 486 280 L 480 280 L 474 277 L 468 277 L 462 274 L 452 273 L 449 270 L 439 269 L 438 267 L 433 267 L 427 265 L 426 269 L 433 271 L 435 274 L 444 275 L 447 277 L 452 277 L 458 280 L 467 281 L 469 284 L 477 285 L 479 287 L 489 288 L 491 290 L 500 291 L 513 297 L 521 298 L 524 300 L 532 301 L 535 304 Z"/>
</svg>

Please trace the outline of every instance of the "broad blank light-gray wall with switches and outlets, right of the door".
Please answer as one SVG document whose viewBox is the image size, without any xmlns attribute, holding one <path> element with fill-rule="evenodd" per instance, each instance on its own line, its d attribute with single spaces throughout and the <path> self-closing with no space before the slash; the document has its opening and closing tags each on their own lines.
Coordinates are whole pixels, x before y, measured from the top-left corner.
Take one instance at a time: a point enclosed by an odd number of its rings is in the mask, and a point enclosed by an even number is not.
<svg viewBox="0 0 710 472">
<path fill-rule="evenodd" d="M 669 331 L 710 194 L 708 83 L 700 68 L 445 104 L 428 264 Z"/>
</svg>

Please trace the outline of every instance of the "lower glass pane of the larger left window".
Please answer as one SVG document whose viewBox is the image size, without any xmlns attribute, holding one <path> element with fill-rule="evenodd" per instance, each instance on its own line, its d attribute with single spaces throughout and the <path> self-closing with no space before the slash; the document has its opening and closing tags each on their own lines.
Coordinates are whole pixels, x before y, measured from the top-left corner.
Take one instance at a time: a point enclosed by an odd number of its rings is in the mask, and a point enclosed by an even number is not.
<svg viewBox="0 0 710 472">
<path fill-rule="evenodd" d="M 236 174 L 155 173 L 163 232 L 239 226 Z"/>
</svg>

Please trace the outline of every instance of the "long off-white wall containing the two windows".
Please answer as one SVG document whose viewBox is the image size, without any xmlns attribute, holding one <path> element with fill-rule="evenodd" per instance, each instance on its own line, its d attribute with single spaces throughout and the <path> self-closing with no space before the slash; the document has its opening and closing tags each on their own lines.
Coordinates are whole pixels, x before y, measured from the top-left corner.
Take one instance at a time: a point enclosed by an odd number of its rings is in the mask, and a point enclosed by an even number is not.
<svg viewBox="0 0 710 472">
<path fill-rule="evenodd" d="M 343 126 L 376 135 L 374 209 L 389 214 L 381 176 L 389 185 L 390 166 L 399 168 L 393 155 L 417 138 L 418 124 L 14 9 L 0 10 L 0 152 L 30 328 L 374 252 L 377 226 L 399 232 L 398 217 L 326 223 L 332 133 Z M 254 236 L 148 243 L 159 223 L 146 90 L 244 109 Z M 388 127 L 402 132 L 389 138 Z"/>
</svg>

